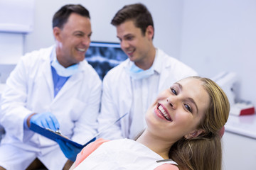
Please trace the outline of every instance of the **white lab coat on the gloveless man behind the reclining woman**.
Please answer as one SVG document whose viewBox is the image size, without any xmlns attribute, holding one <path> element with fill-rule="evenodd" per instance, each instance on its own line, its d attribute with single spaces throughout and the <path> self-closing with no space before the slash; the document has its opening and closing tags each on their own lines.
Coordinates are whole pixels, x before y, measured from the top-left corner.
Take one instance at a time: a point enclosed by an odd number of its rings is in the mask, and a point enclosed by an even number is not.
<svg viewBox="0 0 256 170">
<path fill-rule="evenodd" d="M 166 55 L 162 50 L 157 50 L 156 60 L 161 65 L 161 73 L 159 74 L 159 81 L 157 91 L 152 89 L 151 93 L 159 94 L 159 92 L 164 91 L 169 88 L 176 81 L 183 79 L 185 77 L 198 75 L 193 69 L 188 67 L 186 64 L 176 60 L 174 57 Z M 102 104 L 101 111 L 98 118 L 99 122 L 99 131 L 102 130 L 105 125 L 109 125 L 114 122 L 117 118 L 120 118 L 126 113 L 132 111 L 132 82 L 131 78 L 127 72 L 127 67 L 129 67 L 129 59 L 125 60 L 117 67 L 114 67 L 107 73 L 103 80 L 103 93 L 102 93 Z M 154 61 L 155 62 L 155 61 Z M 155 98 L 153 98 L 154 100 Z M 153 101 L 151 101 L 153 103 Z M 146 108 L 147 109 L 147 108 Z M 134 111 L 135 116 L 140 113 L 139 111 Z M 133 118 L 136 125 L 142 127 L 141 124 L 144 124 L 146 128 L 146 123 L 144 121 L 144 116 L 139 116 L 139 118 Z M 129 128 L 130 128 L 130 119 L 129 116 L 122 118 L 119 123 L 112 125 L 109 130 L 104 131 L 100 137 L 114 140 L 120 138 L 129 138 Z M 142 129 L 138 131 L 142 131 Z"/>
</svg>

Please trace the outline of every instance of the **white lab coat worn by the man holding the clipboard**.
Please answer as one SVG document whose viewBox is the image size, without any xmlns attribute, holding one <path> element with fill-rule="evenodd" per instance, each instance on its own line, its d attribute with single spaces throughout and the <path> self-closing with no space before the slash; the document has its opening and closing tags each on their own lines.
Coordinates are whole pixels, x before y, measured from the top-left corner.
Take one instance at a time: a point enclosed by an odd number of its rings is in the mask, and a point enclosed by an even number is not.
<svg viewBox="0 0 256 170">
<path fill-rule="evenodd" d="M 49 111 L 58 119 L 63 135 L 84 144 L 97 132 L 102 83 L 97 72 L 84 60 L 79 63 L 80 72 L 73 74 L 54 97 L 50 68 L 54 47 L 26 54 L 6 81 L 0 116 L 6 135 L 1 143 L 36 152 L 48 169 L 62 169 L 63 166 L 55 164 L 64 165 L 67 161 L 64 154 L 48 154 L 58 144 L 24 130 L 23 120 L 28 114 Z"/>
</svg>

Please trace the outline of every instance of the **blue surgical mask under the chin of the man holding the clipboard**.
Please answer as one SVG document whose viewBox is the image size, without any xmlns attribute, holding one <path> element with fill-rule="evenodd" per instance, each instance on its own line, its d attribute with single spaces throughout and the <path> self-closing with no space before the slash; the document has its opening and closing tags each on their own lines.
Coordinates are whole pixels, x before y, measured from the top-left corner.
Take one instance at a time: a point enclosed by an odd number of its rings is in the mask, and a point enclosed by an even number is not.
<svg viewBox="0 0 256 170">
<path fill-rule="evenodd" d="M 65 68 L 58 62 L 56 57 L 53 59 L 51 66 L 56 70 L 57 74 L 61 77 L 70 77 L 78 72 L 78 64 L 74 64 L 70 67 Z"/>
</svg>

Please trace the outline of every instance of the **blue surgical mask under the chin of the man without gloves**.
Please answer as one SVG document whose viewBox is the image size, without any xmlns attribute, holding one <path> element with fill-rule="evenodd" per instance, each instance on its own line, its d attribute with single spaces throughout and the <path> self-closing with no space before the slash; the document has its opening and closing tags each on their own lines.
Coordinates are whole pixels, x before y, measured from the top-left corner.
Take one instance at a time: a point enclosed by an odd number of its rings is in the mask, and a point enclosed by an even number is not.
<svg viewBox="0 0 256 170">
<path fill-rule="evenodd" d="M 144 78 L 150 77 L 153 74 L 154 74 L 153 67 L 143 70 L 137 67 L 134 63 L 132 63 L 132 66 L 129 69 L 129 75 L 130 77 L 132 77 L 132 79 L 144 79 Z"/>
</svg>

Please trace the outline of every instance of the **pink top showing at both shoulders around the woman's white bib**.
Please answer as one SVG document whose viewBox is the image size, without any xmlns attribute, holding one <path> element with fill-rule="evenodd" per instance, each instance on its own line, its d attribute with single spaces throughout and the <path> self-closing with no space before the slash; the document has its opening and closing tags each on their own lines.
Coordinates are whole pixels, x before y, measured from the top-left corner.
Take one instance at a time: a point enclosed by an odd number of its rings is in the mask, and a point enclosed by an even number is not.
<svg viewBox="0 0 256 170">
<path fill-rule="evenodd" d="M 82 151 L 78 154 L 75 160 L 75 167 L 78 166 L 85 158 L 87 158 L 92 152 L 94 152 L 102 143 L 108 142 L 110 140 L 103 140 L 102 138 L 91 142 L 89 145 L 84 147 Z M 154 170 L 178 170 L 178 167 L 174 164 L 162 164 Z"/>
</svg>

